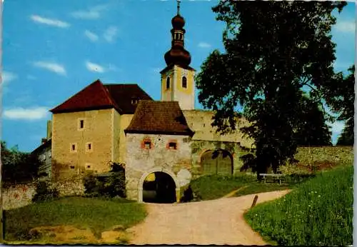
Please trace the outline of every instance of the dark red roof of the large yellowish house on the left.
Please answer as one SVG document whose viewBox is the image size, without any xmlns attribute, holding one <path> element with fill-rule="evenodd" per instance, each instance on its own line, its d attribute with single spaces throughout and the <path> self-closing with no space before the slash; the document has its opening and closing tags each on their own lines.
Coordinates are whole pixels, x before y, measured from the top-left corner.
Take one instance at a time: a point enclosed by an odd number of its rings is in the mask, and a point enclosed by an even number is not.
<svg viewBox="0 0 357 247">
<path fill-rule="evenodd" d="M 120 114 L 133 114 L 136 105 L 131 104 L 132 95 L 137 99 L 151 99 L 151 97 L 136 84 L 104 85 L 101 81 L 96 80 L 50 111 L 54 114 L 58 114 L 114 108 Z"/>
</svg>

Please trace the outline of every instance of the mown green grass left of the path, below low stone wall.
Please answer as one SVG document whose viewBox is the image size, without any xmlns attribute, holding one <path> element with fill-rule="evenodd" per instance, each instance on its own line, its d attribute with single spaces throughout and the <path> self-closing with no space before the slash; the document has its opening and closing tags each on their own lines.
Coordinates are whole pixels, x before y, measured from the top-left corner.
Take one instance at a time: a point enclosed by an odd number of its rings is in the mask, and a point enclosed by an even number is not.
<svg viewBox="0 0 357 247">
<path fill-rule="evenodd" d="M 4 211 L 5 240 L 26 239 L 37 226 L 59 225 L 90 228 L 98 236 L 111 226 L 129 228 L 145 217 L 143 205 L 124 199 L 60 198 Z"/>
</svg>

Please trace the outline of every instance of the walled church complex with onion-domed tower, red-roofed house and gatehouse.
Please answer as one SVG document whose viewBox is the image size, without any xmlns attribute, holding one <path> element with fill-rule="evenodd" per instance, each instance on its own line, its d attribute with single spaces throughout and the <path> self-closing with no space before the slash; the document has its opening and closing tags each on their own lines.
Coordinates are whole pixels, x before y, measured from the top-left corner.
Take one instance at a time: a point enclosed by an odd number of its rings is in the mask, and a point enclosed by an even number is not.
<svg viewBox="0 0 357 247">
<path fill-rule="evenodd" d="M 51 179 L 105 173 L 112 162 L 124 163 L 129 199 L 145 201 L 151 190 L 146 183 L 154 179 L 152 190 L 174 202 L 192 178 L 239 171 L 240 157 L 253 141 L 240 131 L 216 133 L 213 111 L 195 109 L 195 69 L 184 46 L 179 6 L 171 24 L 160 101 L 137 84 L 96 80 L 50 110 Z M 247 124 L 238 119 L 237 129 Z"/>
</svg>

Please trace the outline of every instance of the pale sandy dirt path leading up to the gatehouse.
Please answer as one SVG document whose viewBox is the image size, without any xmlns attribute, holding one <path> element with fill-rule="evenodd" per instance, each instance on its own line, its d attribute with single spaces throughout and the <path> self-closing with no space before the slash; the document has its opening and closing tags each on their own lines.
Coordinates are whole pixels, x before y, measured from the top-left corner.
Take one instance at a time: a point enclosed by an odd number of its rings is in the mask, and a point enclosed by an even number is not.
<svg viewBox="0 0 357 247">
<path fill-rule="evenodd" d="M 258 193 L 258 202 L 270 201 L 288 193 Z M 243 219 L 256 194 L 179 204 L 147 203 L 149 216 L 127 231 L 133 244 L 228 244 L 265 245 Z"/>
</svg>

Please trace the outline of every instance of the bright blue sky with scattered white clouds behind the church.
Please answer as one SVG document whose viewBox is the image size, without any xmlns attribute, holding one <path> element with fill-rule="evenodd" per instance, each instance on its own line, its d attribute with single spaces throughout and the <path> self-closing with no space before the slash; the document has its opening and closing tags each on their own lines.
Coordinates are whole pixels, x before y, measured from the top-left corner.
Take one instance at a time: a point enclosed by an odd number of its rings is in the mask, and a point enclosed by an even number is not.
<svg viewBox="0 0 357 247">
<path fill-rule="evenodd" d="M 181 3 L 185 45 L 197 70 L 213 49 L 223 51 L 224 24 L 211 11 L 216 3 Z M 1 139 L 34 150 L 46 136 L 49 109 L 96 79 L 136 83 L 159 100 L 159 71 L 166 66 L 175 14 L 171 0 L 5 0 Z M 354 63 L 354 4 L 336 16 L 335 68 L 346 71 Z M 332 126 L 336 140 L 343 123 Z"/>
</svg>

